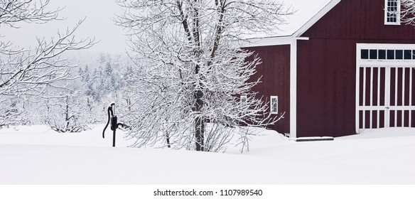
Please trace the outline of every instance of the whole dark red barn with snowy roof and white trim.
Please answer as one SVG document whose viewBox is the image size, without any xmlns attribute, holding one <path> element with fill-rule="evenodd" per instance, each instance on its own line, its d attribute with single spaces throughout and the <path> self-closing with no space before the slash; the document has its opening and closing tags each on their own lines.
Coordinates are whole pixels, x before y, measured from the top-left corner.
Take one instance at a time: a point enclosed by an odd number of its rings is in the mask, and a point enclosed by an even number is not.
<svg viewBox="0 0 415 199">
<path fill-rule="evenodd" d="M 244 45 L 262 58 L 255 90 L 285 112 L 270 128 L 298 139 L 415 127 L 415 27 L 400 23 L 400 0 L 292 4 L 283 36 Z"/>
</svg>

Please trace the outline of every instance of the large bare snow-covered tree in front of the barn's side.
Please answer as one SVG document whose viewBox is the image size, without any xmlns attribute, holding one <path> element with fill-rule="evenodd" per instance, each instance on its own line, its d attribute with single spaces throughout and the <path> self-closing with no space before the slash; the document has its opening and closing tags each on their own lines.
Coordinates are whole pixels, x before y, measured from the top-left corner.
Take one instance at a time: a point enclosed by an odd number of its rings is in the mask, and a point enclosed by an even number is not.
<svg viewBox="0 0 415 199">
<path fill-rule="evenodd" d="M 120 1 L 135 61 L 130 92 L 134 146 L 156 144 L 197 151 L 222 151 L 234 134 L 247 146 L 246 127 L 277 119 L 252 92 L 259 58 L 237 41 L 252 33 L 274 33 L 290 14 L 271 0 Z M 240 96 L 247 96 L 244 103 Z M 233 128 L 232 128 L 233 127 Z"/>
</svg>

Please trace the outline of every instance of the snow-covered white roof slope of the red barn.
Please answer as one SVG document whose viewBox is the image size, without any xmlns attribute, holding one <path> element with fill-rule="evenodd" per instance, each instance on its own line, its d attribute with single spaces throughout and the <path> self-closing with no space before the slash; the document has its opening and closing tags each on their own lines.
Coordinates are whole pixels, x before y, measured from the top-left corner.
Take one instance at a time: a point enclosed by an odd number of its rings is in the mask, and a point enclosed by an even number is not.
<svg viewBox="0 0 415 199">
<path fill-rule="evenodd" d="M 294 14 L 286 16 L 286 24 L 279 26 L 279 30 L 272 35 L 256 33 L 249 36 L 249 43 L 245 47 L 260 45 L 275 45 L 286 38 L 298 38 L 321 17 L 328 13 L 340 0 L 283 0 L 286 7 L 291 6 Z"/>
</svg>

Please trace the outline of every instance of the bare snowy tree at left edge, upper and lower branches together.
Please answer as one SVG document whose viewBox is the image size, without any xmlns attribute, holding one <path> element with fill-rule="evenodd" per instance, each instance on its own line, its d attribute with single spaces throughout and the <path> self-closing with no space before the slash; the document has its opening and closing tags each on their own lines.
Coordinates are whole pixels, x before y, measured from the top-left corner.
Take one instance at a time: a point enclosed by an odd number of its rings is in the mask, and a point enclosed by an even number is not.
<svg viewBox="0 0 415 199">
<path fill-rule="evenodd" d="M 19 28 L 21 23 L 61 20 L 58 18 L 61 9 L 49 10 L 48 4 L 49 0 L 0 0 L 0 30 Z M 69 50 L 90 48 L 95 43 L 94 39 L 75 38 L 74 33 L 82 21 L 75 24 L 75 28 L 58 31 L 50 40 L 38 38 L 34 48 L 16 47 L 6 36 L 0 35 L 0 96 L 42 96 L 45 87 L 65 87 L 57 83 L 75 78 L 72 68 L 76 65 L 70 65 L 62 55 Z M 0 108 L 0 120 L 12 121 L 10 117 L 14 114 L 9 112 L 8 116 L 1 109 L 7 107 Z"/>
</svg>

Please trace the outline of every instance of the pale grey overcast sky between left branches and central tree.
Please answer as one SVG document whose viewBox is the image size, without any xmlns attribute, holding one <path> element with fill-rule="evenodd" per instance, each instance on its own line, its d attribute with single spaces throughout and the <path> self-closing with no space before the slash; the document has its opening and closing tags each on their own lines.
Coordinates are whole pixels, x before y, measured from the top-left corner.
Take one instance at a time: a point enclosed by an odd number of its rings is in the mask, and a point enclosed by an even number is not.
<svg viewBox="0 0 415 199">
<path fill-rule="evenodd" d="M 85 22 L 82 23 L 75 36 L 77 38 L 95 36 L 97 41 L 100 40 L 88 51 L 124 53 L 126 37 L 123 34 L 125 31 L 115 26 L 113 22 L 114 14 L 119 14 L 122 10 L 114 0 L 50 0 L 50 9 L 64 6 L 65 9 L 60 11 L 60 17 L 66 18 L 65 21 L 31 25 L 20 23 L 21 28 L 18 29 L 1 27 L 0 35 L 22 47 L 33 46 L 36 44 L 36 36 L 51 38 L 58 30 L 64 32 L 67 28 L 73 28 L 77 21 L 86 16 Z"/>
</svg>

